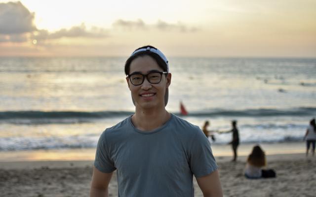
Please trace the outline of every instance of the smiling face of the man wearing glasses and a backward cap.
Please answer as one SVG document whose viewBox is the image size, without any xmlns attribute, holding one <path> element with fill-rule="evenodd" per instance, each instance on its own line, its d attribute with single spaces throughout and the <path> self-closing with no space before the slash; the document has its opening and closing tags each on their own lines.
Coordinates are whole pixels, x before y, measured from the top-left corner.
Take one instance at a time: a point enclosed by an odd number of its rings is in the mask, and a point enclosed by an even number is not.
<svg viewBox="0 0 316 197">
<path fill-rule="evenodd" d="M 129 74 L 141 73 L 148 74 L 153 71 L 163 72 L 155 61 L 150 56 L 142 56 L 134 59 L 129 68 Z M 129 78 L 126 77 L 128 88 L 131 91 L 132 98 L 135 100 L 135 106 L 148 109 L 148 108 L 164 108 L 164 94 L 166 88 L 170 85 L 171 74 L 168 73 L 167 77 L 162 74 L 161 81 L 158 84 L 151 84 L 145 77 L 141 85 L 133 85 Z"/>
</svg>

